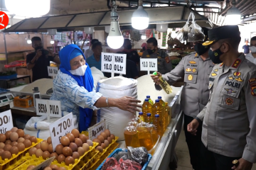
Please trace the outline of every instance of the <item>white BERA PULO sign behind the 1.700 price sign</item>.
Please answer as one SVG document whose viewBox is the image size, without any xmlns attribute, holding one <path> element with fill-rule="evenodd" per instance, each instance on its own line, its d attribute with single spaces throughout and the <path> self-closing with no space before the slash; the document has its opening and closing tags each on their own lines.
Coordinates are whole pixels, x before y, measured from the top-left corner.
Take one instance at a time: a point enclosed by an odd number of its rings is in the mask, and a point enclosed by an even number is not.
<svg viewBox="0 0 256 170">
<path fill-rule="evenodd" d="M 60 101 L 50 101 L 36 98 L 36 115 L 46 115 L 50 117 L 61 118 Z"/>
</svg>

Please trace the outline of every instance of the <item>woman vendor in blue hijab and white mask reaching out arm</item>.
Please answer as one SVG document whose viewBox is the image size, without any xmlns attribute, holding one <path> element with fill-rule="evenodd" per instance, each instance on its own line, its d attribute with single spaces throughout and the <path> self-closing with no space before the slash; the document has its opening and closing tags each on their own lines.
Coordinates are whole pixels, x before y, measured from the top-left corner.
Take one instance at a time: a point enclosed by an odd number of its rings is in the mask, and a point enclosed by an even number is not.
<svg viewBox="0 0 256 170">
<path fill-rule="evenodd" d="M 92 110 L 117 107 L 135 113 L 141 101 L 131 97 L 105 98 L 95 91 L 92 72 L 78 45 L 67 45 L 60 50 L 60 71 L 53 81 L 51 100 L 60 101 L 61 111 L 78 116 L 79 130 L 87 130 Z"/>
</svg>

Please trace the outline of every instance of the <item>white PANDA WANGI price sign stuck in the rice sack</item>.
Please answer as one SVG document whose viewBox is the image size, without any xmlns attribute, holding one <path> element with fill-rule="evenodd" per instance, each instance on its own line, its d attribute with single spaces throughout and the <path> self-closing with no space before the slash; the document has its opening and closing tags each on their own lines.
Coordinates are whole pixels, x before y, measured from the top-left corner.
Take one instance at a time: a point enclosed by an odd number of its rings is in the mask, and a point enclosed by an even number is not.
<svg viewBox="0 0 256 170">
<path fill-rule="evenodd" d="M 102 52 L 101 60 L 102 60 L 102 64 L 101 64 L 102 72 L 110 72 L 111 77 L 114 77 L 114 73 L 126 74 L 126 63 L 127 63 L 126 54 Z"/>
</svg>

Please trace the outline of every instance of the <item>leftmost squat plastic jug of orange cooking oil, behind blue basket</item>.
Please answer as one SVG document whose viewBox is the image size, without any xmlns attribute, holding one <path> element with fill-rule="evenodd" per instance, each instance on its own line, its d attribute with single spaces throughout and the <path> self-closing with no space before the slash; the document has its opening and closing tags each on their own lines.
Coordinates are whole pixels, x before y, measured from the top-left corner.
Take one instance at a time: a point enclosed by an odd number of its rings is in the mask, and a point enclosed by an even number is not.
<svg viewBox="0 0 256 170">
<path fill-rule="evenodd" d="M 139 147 L 137 128 L 132 125 L 124 128 L 124 140 L 127 147 Z"/>
</svg>

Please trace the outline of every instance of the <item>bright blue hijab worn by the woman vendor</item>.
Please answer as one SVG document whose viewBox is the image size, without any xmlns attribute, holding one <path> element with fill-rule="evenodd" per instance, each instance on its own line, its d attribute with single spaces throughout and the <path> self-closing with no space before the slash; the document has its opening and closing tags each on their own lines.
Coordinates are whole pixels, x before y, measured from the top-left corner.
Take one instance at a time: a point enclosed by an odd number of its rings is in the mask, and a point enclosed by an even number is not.
<svg viewBox="0 0 256 170">
<path fill-rule="evenodd" d="M 70 77 L 72 77 L 73 79 L 75 79 L 75 81 L 78 82 L 79 86 L 85 87 L 85 89 L 90 92 L 93 89 L 93 78 L 92 72 L 87 63 L 85 63 L 87 65 L 87 69 L 85 71 L 84 76 L 76 76 L 69 72 L 69 70 L 71 70 L 70 60 L 72 60 L 75 57 L 78 57 L 78 55 L 82 55 L 85 59 L 85 55 L 82 53 L 82 50 L 80 50 L 78 45 L 71 44 L 63 47 L 63 49 L 60 50 L 60 71 L 64 74 L 70 75 Z M 92 109 L 79 107 L 79 112 L 79 131 L 82 132 L 84 130 L 87 130 L 91 123 Z"/>
</svg>

